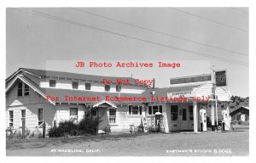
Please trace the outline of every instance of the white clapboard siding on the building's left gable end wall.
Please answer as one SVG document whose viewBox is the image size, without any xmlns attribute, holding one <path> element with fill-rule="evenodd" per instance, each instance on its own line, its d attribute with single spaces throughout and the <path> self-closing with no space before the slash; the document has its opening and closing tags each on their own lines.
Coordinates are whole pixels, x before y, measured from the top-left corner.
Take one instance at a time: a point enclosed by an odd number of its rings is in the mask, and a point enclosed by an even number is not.
<svg viewBox="0 0 256 163">
<path fill-rule="evenodd" d="M 46 127 L 52 126 L 55 117 L 55 106 L 46 102 L 38 93 L 30 88 L 30 95 L 17 97 L 17 82 L 13 89 L 9 91 L 6 98 L 6 115 L 9 126 L 9 110 L 14 111 L 14 128 L 19 129 L 21 126 L 21 110 L 26 110 L 26 127 L 34 130 L 38 126 L 38 109 L 43 109 L 43 118 Z"/>
</svg>

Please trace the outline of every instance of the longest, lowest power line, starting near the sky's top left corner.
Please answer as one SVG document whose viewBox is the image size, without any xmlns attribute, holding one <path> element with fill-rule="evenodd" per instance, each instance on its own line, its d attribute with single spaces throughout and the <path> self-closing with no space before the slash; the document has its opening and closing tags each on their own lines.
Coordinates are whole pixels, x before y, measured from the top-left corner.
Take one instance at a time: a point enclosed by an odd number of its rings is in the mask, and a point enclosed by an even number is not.
<svg viewBox="0 0 256 163">
<path fill-rule="evenodd" d="M 207 57 L 207 58 L 223 60 L 223 61 L 230 62 L 230 63 L 237 64 L 237 65 L 248 66 L 247 62 L 242 62 L 242 61 L 238 61 L 238 60 L 234 60 L 234 59 L 224 59 L 224 58 L 217 57 L 217 56 L 210 55 L 210 54 L 206 54 L 206 53 L 199 53 L 199 52 L 195 52 L 195 51 L 184 49 L 184 48 L 172 47 L 172 46 L 169 46 L 169 45 L 166 45 L 166 44 L 162 44 L 162 43 L 159 43 L 159 42 L 150 42 L 148 40 L 143 40 L 141 38 L 126 36 L 124 34 L 120 34 L 120 33 L 114 32 L 114 31 L 104 30 L 104 29 L 97 28 L 97 27 L 94 27 L 94 26 L 78 23 L 78 22 L 75 22 L 75 21 L 72 21 L 72 20 L 66 20 L 66 19 L 63 19 L 61 17 L 53 16 L 53 15 L 50 15 L 50 14 L 40 13 L 38 11 L 29 11 L 29 10 L 26 10 L 26 9 L 24 10 L 24 9 L 21 9 L 21 8 L 13 8 L 13 9 L 19 9 L 20 11 L 23 11 L 23 12 L 26 12 L 26 13 L 29 13 L 29 14 L 36 14 L 36 15 L 39 15 L 39 16 L 42 16 L 44 18 L 48 18 L 48 19 L 51 19 L 51 20 L 58 20 L 58 21 L 61 21 L 61 22 L 72 24 L 72 25 L 79 25 L 79 26 L 82 26 L 82 27 L 85 27 L 85 28 L 90 28 L 90 29 L 96 30 L 96 31 L 104 31 L 104 32 L 107 32 L 107 33 L 111 33 L 113 35 L 120 36 L 120 37 L 131 38 L 133 40 L 137 40 L 137 41 L 141 41 L 141 42 L 148 42 L 150 44 L 159 45 L 161 47 L 176 49 L 176 50 L 179 50 L 179 51 L 183 51 L 185 53 L 194 53 L 194 54 L 197 54 L 197 55 L 200 55 L 200 56 L 204 56 L 204 57 Z"/>
</svg>

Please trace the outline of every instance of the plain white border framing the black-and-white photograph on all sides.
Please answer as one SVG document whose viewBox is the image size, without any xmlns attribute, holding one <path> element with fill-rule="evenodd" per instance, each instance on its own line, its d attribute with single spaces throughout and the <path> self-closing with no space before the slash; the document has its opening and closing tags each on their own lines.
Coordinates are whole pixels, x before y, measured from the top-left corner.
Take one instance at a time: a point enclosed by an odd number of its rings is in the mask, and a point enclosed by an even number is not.
<svg viewBox="0 0 256 163">
<path fill-rule="evenodd" d="M 159 162 L 159 161 L 172 161 L 172 162 L 253 162 L 255 161 L 255 129 L 253 128 L 254 124 L 254 113 L 255 111 L 251 110 L 251 120 L 250 120 L 250 156 L 249 157 L 6 157 L 6 148 L 5 148 L 5 111 L 3 104 L 5 104 L 5 78 L 6 76 L 3 76 L 3 74 L 6 73 L 6 32 L 5 32 L 5 22 L 6 22 L 6 15 L 5 15 L 5 8 L 6 7 L 172 7 L 172 6 L 178 6 L 178 7 L 250 7 L 250 83 L 255 83 L 255 72 L 253 72 L 256 69 L 256 59 L 255 59 L 255 2 L 254 0 L 212 0 L 212 1 L 206 1 L 206 0 L 179 0 L 179 1 L 171 1 L 171 0 L 163 0 L 163 1 L 149 1 L 149 0 L 143 0 L 143 1 L 120 1 L 120 0 L 94 0 L 94 1 L 80 1 L 79 3 L 73 0 L 69 1 L 55 1 L 53 0 L 4 0 L 1 2 L 1 64 L 0 68 L 2 70 L 2 76 L 1 76 L 1 104 L 2 104 L 2 110 L 1 115 L 2 118 L 0 118 L 1 123 L 1 134 L 0 134 L 0 141 L 1 141 L 1 162 L 96 162 L 96 161 L 111 161 L 111 162 Z M 254 65 L 253 65 L 254 64 Z M 251 101 L 255 98 L 255 93 L 253 93 L 253 90 L 255 89 L 255 85 L 250 85 L 250 98 Z M 254 107 L 255 104 L 251 103 L 250 108 L 256 108 Z M 86 159 L 86 160 L 85 160 Z"/>
</svg>

